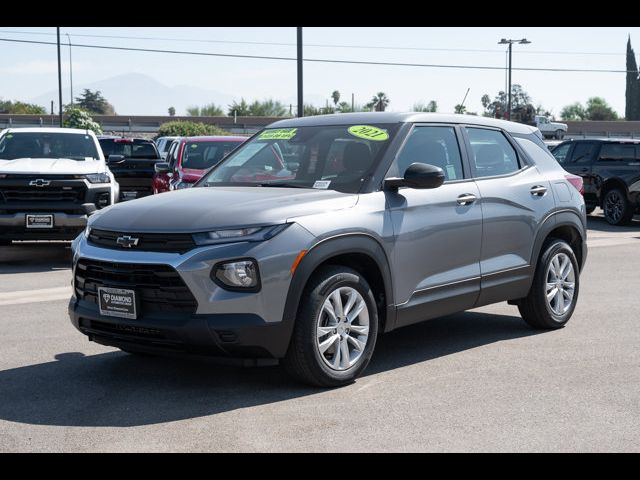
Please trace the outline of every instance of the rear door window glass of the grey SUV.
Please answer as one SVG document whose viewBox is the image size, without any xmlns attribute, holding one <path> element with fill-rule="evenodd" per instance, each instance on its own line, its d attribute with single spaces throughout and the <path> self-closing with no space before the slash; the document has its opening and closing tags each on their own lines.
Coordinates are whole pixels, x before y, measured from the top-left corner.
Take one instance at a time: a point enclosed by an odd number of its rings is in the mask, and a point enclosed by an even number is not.
<svg viewBox="0 0 640 480">
<path fill-rule="evenodd" d="M 499 130 L 466 127 L 476 177 L 506 175 L 520 170 L 518 155 Z"/>
</svg>

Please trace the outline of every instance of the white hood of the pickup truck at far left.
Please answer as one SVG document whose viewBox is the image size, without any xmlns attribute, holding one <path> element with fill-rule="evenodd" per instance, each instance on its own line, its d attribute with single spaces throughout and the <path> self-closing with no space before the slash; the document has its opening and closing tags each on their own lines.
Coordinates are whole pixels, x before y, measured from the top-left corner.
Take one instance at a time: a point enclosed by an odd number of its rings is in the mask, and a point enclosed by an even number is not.
<svg viewBox="0 0 640 480">
<path fill-rule="evenodd" d="M 16 158 L 0 159 L 0 173 L 36 173 L 39 175 L 62 175 L 102 173 L 105 163 L 100 160 L 71 160 L 69 158 Z"/>
</svg>

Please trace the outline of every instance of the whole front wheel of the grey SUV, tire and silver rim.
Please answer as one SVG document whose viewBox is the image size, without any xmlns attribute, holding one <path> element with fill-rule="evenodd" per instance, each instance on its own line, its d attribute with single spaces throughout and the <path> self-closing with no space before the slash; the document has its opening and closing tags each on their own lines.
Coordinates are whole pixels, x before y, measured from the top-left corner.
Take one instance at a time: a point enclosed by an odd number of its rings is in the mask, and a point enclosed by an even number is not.
<svg viewBox="0 0 640 480">
<path fill-rule="evenodd" d="M 369 364 L 378 334 L 376 303 L 365 278 L 351 268 L 323 267 L 300 305 L 284 367 L 315 386 L 353 382 Z"/>
</svg>

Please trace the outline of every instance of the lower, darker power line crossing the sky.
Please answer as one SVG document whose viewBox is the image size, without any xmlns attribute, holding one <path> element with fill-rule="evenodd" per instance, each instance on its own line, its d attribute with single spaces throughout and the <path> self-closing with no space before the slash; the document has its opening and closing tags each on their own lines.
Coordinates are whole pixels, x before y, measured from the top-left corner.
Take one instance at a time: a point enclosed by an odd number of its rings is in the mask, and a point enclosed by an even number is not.
<svg viewBox="0 0 640 480">
<path fill-rule="evenodd" d="M 0 38 L 3 42 L 14 43 L 29 43 L 39 45 L 56 45 L 55 42 L 42 42 L 37 40 L 18 40 L 13 38 Z M 198 55 L 208 57 L 226 57 L 226 58 L 250 58 L 261 60 L 283 60 L 283 61 L 295 61 L 295 57 L 276 57 L 266 55 L 240 55 L 230 53 L 212 53 L 212 52 L 192 52 L 186 50 L 162 50 L 151 48 L 134 48 L 134 47 L 116 47 L 111 45 L 87 45 L 81 43 L 72 43 L 73 47 L 80 48 L 98 48 L 102 50 L 120 50 L 131 52 L 150 52 L 150 53 L 170 53 L 178 55 Z M 472 70 L 504 70 L 504 67 L 493 67 L 486 65 L 444 65 L 435 63 L 404 63 L 404 62 L 374 62 L 368 60 L 335 60 L 328 58 L 305 58 L 305 62 L 314 63 L 338 63 L 338 64 L 350 64 L 350 65 L 378 65 L 378 66 L 395 66 L 395 67 L 423 67 L 423 68 L 457 68 L 457 69 L 472 69 Z M 580 72 L 580 73 L 629 73 L 627 70 L 614 70 L 614 69 L 587 69 L 587 68 L 540 68 L 540 67 L 514 67 L 513 70 L 519 71 L 531 71 L 531 72 Z M 634 72 L 637 73 L 637 72 Z"/>
</svg>

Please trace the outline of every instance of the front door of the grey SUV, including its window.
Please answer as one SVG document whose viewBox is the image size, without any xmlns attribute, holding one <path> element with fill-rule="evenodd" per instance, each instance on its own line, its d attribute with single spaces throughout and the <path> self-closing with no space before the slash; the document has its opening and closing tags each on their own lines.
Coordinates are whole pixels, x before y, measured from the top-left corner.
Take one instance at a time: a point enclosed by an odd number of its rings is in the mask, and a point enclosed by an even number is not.
<svg viewBox="0 0 640 480">
<path fill-rule="evenodd" d="M 386 192 L 397 326 L 472 308 L 480 292 L 480 193 L 463 162 L 457 128 L 415 126 L 387 176 L 402 177 L 415 162 L 442 168 L 445 182 Z"/>
</svg>

